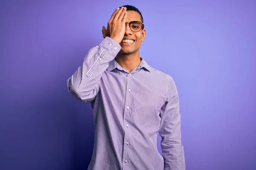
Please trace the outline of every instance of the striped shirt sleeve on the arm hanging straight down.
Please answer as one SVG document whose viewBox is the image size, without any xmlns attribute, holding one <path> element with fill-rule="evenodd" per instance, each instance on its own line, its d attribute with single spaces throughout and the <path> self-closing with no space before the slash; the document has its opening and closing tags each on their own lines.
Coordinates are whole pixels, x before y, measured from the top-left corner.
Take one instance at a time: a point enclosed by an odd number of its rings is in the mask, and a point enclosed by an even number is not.
<svg viewBox="0 0 256 170">
<path fill-rule="evenodd" d="M 160 116 L 159 135 L 162 137 L 164 170 L 185 170 L 185 156 L 181 144 L 179 96 L 172 77 L 169 77 L 167 100 L 160 110 Z"/>
</svg>

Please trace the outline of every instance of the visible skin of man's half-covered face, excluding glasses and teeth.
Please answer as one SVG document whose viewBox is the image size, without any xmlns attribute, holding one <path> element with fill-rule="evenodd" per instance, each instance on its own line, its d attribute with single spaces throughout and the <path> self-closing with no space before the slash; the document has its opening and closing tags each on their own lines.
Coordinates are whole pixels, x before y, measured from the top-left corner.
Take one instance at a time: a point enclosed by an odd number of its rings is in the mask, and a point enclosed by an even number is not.
<svg viewBox="0 0 256 170">
<path fill-rule="evenodd" d="M 146 35 L 146 31 L 143 29 L 141 29 L 138 32 L 133 32 L 131 31 L 131 28 L 129 27 L 129 24 L 131 21 L 140 21 L 141 22 L 141 18 L 140 18 L 140 14 L 137 11 L 127 11 L 127 18 L 125 23 L 126 24 L 126 28 L 125 28 L 125 35 L 124 35 L 124 39 L 130 39 L 130 40 L 134 40 L 133 43 L 120 43 L 121 45 L 121 53 L 124 54 L 132 54 L 137 52 L 140 49 L 140 45 L 141 42 L 144 41 L 145 39 L 145 35 Z"/>
</svg>

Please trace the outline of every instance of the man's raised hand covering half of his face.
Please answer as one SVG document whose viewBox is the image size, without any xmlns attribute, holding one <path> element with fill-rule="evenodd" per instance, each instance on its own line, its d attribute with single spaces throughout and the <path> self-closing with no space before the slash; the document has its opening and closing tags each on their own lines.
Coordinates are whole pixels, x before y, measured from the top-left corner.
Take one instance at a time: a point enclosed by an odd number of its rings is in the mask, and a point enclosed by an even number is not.
<svg viewBox="0 0 256 170">
<path fill-rule="evenodd" d="M 117 8 L 108 21 L 108 28 L 102 27 L 103 37 L 110 37 L 120 43 L 125 35 L 125 20 L 127 11 L 125 7 Z"/>
</svg>

